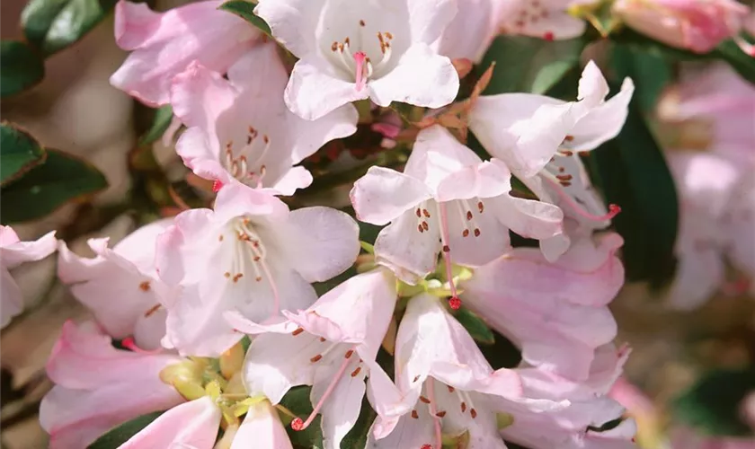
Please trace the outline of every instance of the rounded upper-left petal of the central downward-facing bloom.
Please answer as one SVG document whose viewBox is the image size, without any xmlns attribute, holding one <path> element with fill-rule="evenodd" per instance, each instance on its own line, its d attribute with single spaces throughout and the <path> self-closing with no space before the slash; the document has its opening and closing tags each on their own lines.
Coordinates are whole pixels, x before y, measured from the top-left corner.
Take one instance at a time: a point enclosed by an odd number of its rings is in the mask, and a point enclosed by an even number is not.
<svg viewBox="0 0 755 449">
<path fill-rule="evenodd" d="M 351 205 L 360 221 L 385 225 L 406 210 L 431 198 L 421 181 L 385 167 L 369 167 L 367 174 L 354 182 Z"/>
</svg>

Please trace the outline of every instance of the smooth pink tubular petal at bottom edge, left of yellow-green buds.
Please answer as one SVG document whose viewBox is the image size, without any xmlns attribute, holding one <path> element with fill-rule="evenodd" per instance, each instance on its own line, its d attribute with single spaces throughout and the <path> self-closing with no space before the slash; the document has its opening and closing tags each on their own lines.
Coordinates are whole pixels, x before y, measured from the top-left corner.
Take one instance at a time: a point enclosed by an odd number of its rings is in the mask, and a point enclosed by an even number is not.
<svg viewBox="0 0 755 449">
<path fill-rule="evenodd" d="M 169 409 L 120 449 L 192 447 L 212 449 L 218 436 L 222 413 L 209 396 Z"/>
</svg>

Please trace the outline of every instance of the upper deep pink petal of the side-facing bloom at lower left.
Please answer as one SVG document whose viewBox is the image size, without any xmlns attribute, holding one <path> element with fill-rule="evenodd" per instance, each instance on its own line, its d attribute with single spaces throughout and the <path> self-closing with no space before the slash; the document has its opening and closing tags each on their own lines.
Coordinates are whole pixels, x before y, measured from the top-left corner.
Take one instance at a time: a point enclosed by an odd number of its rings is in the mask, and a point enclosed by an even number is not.
<svg viewBox="0 0 755 449">
<path fill-rule="evenodd" d="M 180 357 L 170 355 L 116 349 L 110 337 L 67 321 L 46 369 L 58 385 L 93 390 L 112 383 L 160 382 L 160 371 L 180 361 Z"/>
</svg>

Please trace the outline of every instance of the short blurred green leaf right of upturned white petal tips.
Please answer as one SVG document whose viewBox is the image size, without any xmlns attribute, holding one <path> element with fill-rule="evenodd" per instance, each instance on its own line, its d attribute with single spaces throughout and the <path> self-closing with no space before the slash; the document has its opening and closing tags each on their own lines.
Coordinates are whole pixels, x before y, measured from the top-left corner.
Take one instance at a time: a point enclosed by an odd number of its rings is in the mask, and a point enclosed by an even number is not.
<svg viewBox="0 0 755 449">
<path fill-rule="evenodd" d="M 618 78 L 635 81 L 635 98 L 644 111 L 652 111 L 663 88 L 671 81 L 671 65 L 666 57 L 620 44 L 611 51 L 611 66 Z"/>
</svg>

